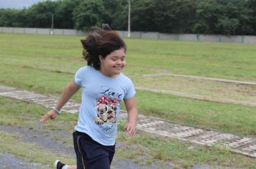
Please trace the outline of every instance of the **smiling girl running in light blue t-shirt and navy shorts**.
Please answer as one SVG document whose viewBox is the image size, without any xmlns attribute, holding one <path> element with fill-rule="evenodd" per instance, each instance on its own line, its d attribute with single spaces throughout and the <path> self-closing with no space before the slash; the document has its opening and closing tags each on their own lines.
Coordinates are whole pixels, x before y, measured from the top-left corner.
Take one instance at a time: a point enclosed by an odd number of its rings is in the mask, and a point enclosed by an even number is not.
<svg viewBox="0 0 256 169">
<path fill-rule="evenodd" d="M 126 64 L 126 44 L 106 24 L 81 42 L 88 66 L 78 69 L 56 107 L 42 116 L 40 122 L 57 117 L 60 109 L 82 87 L 78 123 L 73 132 L 77 165 L 68 166 L 56 161 L 55 166 L 58 169 L 110 168 L 122 100 L 128 113 L 125 129 L 131 136 L 135 134 L 138 118 L 134 85 L 122 74 Z"/>
</svg>

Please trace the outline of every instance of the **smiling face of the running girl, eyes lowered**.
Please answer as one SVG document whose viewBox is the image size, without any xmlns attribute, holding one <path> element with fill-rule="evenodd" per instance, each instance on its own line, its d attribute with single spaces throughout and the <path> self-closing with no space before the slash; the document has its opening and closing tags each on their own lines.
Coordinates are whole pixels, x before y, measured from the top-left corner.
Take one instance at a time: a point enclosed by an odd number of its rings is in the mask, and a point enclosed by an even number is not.
<svg viewBox="0 0 256 169">
<path fill-rule="evenodd" d="M 99 72 L 107 77 L 116 77 L 122 72 L 126 64 L 124 48 L 114 50 L 105 58 L 99 56 L 99 60 L 101 62 Z"/>
</svg>

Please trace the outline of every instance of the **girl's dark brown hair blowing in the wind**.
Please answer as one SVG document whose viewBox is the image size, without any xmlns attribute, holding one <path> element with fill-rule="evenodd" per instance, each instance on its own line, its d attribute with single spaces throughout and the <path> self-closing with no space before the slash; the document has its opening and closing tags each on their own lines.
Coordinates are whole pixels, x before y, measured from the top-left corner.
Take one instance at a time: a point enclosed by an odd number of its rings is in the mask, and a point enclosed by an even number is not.
<svg viewBox="0 0 256 169">
<path fill-rule="evenodd" d="M 113 31 L 108 24 L 102 24 L 101 28 L 95 27 L 86 39 L 81 40 L 83 44 L 83 58 L 88 66 L 101 69 L 99 56 L 105 58 L 111 52 L 124 48 L 126 44 L 119 34 Z"/>
</svg>

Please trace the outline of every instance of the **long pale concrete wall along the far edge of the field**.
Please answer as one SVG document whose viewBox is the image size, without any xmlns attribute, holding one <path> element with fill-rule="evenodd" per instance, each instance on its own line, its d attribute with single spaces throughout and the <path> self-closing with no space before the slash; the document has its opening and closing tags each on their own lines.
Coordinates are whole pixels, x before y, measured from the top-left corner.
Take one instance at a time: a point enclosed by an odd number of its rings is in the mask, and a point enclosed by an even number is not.
<svg viewBox="0 0 256 169">
<path fill-rule="evenodd" d="M 118 31 L 122 37 L 127 37 L 127 31 Z M 9 34 L 58 34 L 86 36 L 86 32 L 76 29 L 42 29 L 42 28 L 17 28 L 0 27 L 0 33 Z M 230 42 L 256 44 L 256 36 L 228 36 L 215 34 L 162 34 L 159 32 L 131 32 L 130 37 L 141 39 L 163 39 L 175 41 L 198 41 L 198 42 Z"/>
</svg>

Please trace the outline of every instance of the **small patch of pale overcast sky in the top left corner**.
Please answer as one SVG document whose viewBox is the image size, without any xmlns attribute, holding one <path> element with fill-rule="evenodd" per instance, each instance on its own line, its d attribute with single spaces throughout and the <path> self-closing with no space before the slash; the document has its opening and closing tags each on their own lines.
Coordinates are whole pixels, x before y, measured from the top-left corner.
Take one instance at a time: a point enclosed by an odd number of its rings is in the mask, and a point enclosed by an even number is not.
<svg viewBox="0 0 256 169">
<path fill-rule="evenodd" d="M 0 0 L 0 9 L 23 9 L 24 7 L 28 8 L 29 6 L 32 6 L 32 4 L 37 4 L 39 1 L 46 0 Z"/>
</svg>

